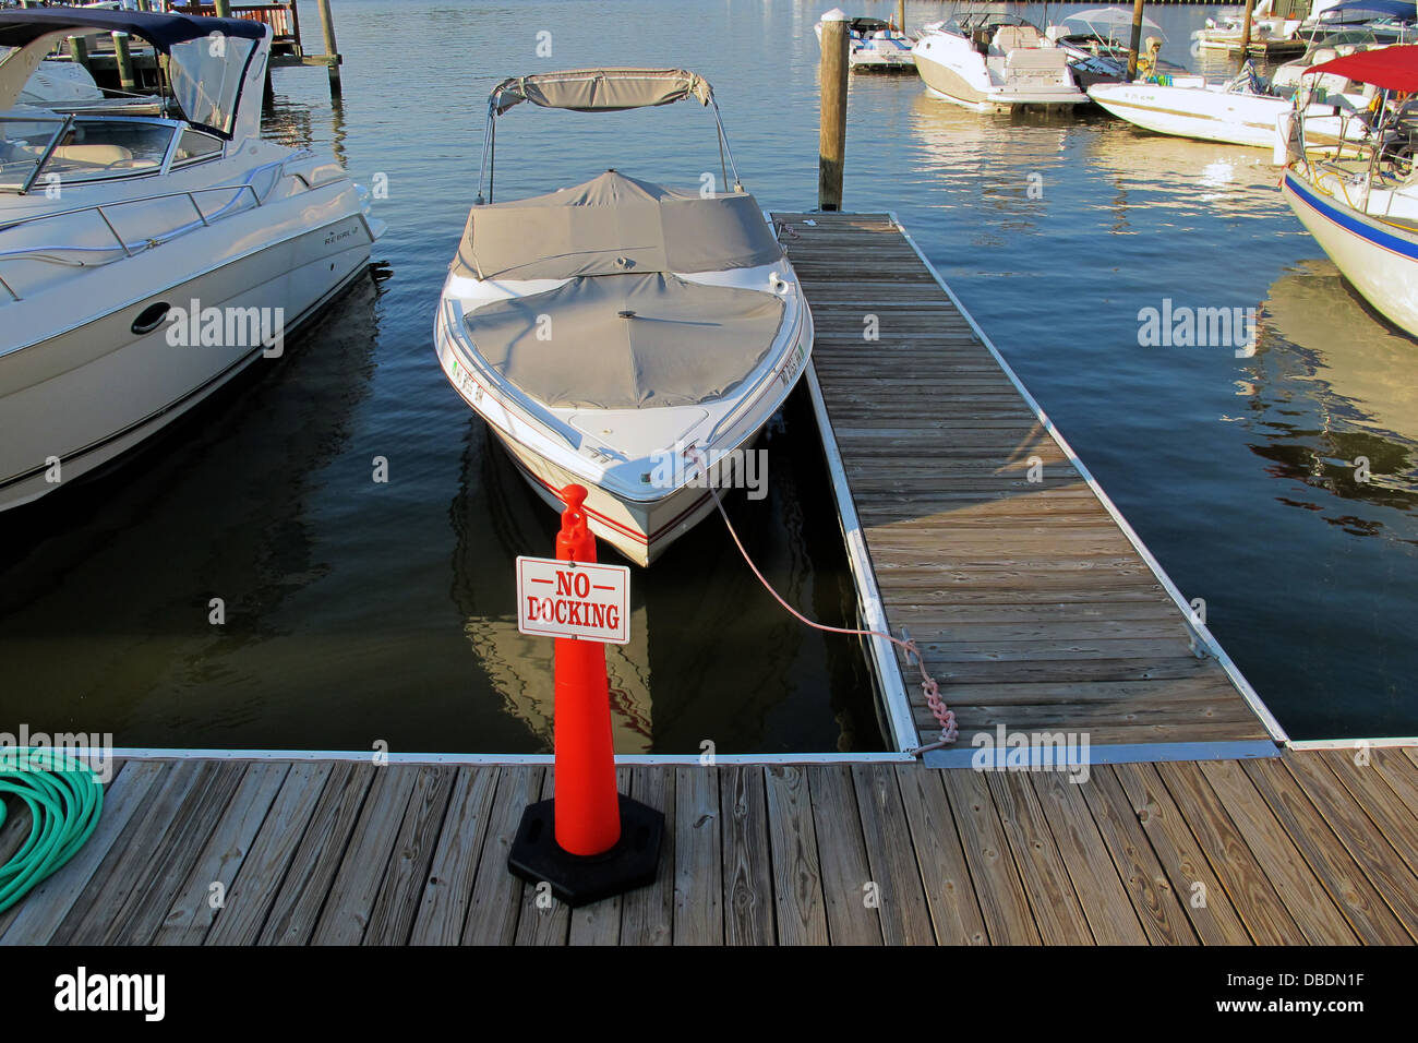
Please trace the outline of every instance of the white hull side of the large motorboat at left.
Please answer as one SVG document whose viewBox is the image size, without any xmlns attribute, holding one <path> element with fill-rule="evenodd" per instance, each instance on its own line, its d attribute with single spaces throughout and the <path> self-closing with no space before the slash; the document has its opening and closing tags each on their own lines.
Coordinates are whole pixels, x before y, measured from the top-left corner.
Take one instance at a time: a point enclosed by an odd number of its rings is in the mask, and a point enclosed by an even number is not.
<svg viewBox="0 0 1418 1043">
<path fill-rule="evenodd" d="M 0 355 L 0 417 L 6 430 L 0 441 L 0 509 L 37 500 L 135 448 L 252 363 L 275 365 L 278 358 L 264 359 L 275 348 L 261 343 L 174 346 L 167 339 L 169 322 L 142 336 L 130 325 L 157 301 L 190 309 L 197 299 L 203 308 L 281 308 L 284 339 L 369 264 L 369 227 L 352 186 L 345 183 L 343 189 L 313 213 L 292 211 L 289 234 L 265 228 L 259 248 L 217 264 L 211 258 L 240 241 L 240 219 L 99 268 L 88 277 L 95 285 L 75 292 L 85 294 L 88 304 L 108 298 L 101 305 L 104 314 Z M 311 200 L 302 203 L 309 206 Z M 252 221 L 269 219 L 264 210 Z M 322 210 L 322 223 L 305 224 Z M 248 234 L 257 234 L 254 223 Z M 339 236 L 343 238 L 336 240 Z M 122 272 L 128 278 L 118 280 L 113 268 L 123 265 L 132 270 Z M 162 271 L 152 271 L 157 265 Z M 204 267 L 207 271 L 196 278 L 170 278 Z M 162 288 L 155 292 L 155 285 Z M 6 315 L 16 318 L 7 339 L 24 326 L 21 311 L 48 309 L 48 318 L 40 321 L 52 326 L 55 312 L 48 298 L 54 295 L 4 305 Z"/>
</svg>

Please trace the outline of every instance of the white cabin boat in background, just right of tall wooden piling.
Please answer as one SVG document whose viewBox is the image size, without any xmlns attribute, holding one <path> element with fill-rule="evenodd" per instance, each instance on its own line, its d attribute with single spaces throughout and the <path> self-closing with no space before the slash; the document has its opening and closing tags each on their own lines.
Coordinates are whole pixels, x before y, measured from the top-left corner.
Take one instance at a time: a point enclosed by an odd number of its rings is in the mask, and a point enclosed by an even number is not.
<svg viewBox="0 0 1418 1043">
<path fill-rule="evenodd" d="M 933 94 L 977 112 L 1088 101 L 1073 82 L 1069 55 L 1012 14 L 963 14 L 932 23 L 912 53 Z"/>
</svg>

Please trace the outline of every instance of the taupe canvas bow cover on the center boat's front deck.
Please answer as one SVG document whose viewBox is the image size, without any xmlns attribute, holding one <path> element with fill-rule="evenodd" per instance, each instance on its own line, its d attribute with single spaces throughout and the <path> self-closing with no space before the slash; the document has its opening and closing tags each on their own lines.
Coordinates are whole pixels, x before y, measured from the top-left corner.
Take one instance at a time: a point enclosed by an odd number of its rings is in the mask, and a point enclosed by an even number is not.
<svg viewBox="0 0 1418 1043">
<path fill-rule="evenodd" d="M 464 319 L 498 373 L 554 409 L 722 399 L 769 353 L 781 321 L 777 294 L 659 272 L 577 278 Z"/>
</svg>

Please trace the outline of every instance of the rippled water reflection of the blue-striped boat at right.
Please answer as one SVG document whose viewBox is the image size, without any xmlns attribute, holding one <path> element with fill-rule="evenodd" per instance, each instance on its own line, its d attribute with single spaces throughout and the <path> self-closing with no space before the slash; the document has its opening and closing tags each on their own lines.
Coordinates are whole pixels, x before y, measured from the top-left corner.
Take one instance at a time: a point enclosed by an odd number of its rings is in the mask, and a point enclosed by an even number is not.
<svg viewBox="0 0 1418 1043">
<path fill-rule="evenodd" d="M 1271 287 L 1261 339 L 1238 383 L 1248 399 L 1251 450 L 1271 473 L 1343 501 L 1279 497 L 1353 535 L 1418 542 L 1418 524 L 1394 524 L 1363 505 L 1418 507 L 1418 390 L 1414 342 L 1378 318 L 1327 260 L 1302 261 Z M 1367 480 L 1356 475 L 1367 460 Z M 1409 515 L 1409 521 L 1418 518 Z"/>
</svg>

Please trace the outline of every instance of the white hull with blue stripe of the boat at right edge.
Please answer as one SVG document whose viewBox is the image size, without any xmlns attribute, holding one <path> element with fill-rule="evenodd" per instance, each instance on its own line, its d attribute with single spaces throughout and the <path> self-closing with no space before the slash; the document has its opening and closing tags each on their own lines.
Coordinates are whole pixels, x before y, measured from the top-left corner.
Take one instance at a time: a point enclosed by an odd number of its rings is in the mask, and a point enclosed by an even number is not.
<svg viewBox="0 0 1418 1043">
<path fill-rule="evenodd" d="M 1418 336 L 1418 227 L 1381 221 L 1286 172 L 1285 200 L 1375 311 Z"/>
</svg>

